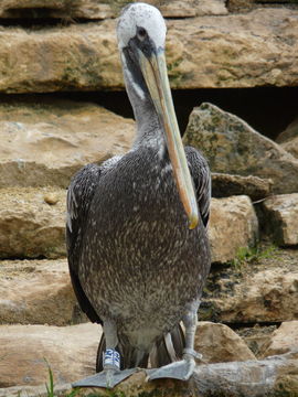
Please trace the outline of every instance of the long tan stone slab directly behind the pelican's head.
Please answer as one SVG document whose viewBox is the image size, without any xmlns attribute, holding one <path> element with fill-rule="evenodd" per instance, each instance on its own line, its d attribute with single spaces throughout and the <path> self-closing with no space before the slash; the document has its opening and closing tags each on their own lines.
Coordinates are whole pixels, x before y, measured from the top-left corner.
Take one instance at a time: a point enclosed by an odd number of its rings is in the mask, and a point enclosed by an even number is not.
<svg viewBox="0 0 298 397">
<path fill-rule="evenodd" d="M 0 92 L 123 88 L 115 28 L 115 20 L 105 20 L 36 31 L 1 29 Z M 298 85 L 296 10 L 171 20 L 168 28 L 173 88 Z"/>
</svg>

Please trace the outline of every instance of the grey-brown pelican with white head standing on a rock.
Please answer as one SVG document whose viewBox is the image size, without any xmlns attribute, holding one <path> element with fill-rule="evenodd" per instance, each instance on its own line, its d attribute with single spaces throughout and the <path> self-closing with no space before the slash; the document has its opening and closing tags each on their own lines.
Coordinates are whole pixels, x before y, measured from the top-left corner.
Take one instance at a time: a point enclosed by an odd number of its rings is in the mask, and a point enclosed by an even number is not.
<svg viewBox="0 0 298 397">
<path fill-rule="evenodd" d="M 126 154 L 79 170 L 67 192 L 73 288 L 89 320 L 103 325 L 97 373 L 74 386 L 114 387 L 137 367 L 149 368 L 149 379 L 187 380 L 200 357 L 194 334 L 210 269 L 211 180 L 204 158 L 181 141 L 166 30 L 152 6 L 121 11 L 118 47 L 136 139 Z"/>
</svg>

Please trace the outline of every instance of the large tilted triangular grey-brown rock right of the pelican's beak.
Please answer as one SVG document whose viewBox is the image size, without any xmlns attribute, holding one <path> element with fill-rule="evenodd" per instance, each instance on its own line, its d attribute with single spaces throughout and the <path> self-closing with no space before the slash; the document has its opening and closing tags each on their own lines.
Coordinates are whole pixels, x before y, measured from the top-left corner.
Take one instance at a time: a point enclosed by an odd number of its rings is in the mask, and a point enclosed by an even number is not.
<svg viewBox="0 0 298 397">
<path fill-rule="evenodd" d="M 193 109 L 183 140 L 203 152 L 213 172 L 272 179 L 275 193 L 298 190 L 298 160 L 212 104 Z"/>
</svg>

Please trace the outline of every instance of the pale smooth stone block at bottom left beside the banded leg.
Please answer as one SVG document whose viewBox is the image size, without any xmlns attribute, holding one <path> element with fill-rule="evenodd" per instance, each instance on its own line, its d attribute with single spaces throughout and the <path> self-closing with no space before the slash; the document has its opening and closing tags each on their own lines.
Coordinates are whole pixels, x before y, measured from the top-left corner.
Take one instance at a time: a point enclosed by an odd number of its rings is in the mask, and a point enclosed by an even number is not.
<svg viewBox="0 0 298 397">
<path fill-rule="evenodd" d="M 72 326 L 0 325 L 0 388 L 49 382 L 47 361 L 55 384 L 95 372 L 100 337 L 97 324 Z"/>
</svg>

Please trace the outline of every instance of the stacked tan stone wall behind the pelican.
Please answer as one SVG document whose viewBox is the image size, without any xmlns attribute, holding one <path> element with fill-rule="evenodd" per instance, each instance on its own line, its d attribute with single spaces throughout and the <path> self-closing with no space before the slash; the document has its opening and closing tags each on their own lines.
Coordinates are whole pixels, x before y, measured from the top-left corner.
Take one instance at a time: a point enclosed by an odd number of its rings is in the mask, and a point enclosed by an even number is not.
<svg viewBox="0 0 298 397">
<path fill-rule="evenodd" d="M 147 2 L 168 18 L 172 88 L 192 95 L 205 88 L 298 88 L 295 2 Z M 22 389 L 42 395 L 44 386 L 34 386 L 46 382 L 44 357 L 56 388 L 94 372 L 102 331 L 87 324 L 71 287 L 65 196 L 81 167 L 125 153 L 134 139 L 134 120 L 92 100 L 100 92 L 105 105 L 107 90 L 113 101 L 113 93 L 124 89 L 115 18 L 126 3 L 0 4 L 0 396 L 25 395 Z M 209 376 L 219 372 L 226 379 L 219 386 L 223 396 L 278 395 L 280 387 L 295 395 L 297 119 L 273 141 L 236 115 L 198 103 L 183 139 L 204 153 L 213 172 L 213 265 L 199 313 L 204 322 L 195 345 L 204 362 L 198 363 L 193 393 L 212 395 L 206 385 L 216 379 Z M 267 358 L 274 354 L 276 362 Z M 221 367 L 223 362 L 233 363 Z M 156 385 L 137 374 L 124 390 L 137 396 Z M 158 384 L 161 391 L 168 386 Z M 179 387 L 172 395 L 182 394 Z"/>
</svg>

